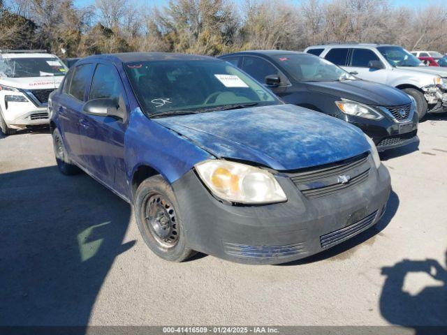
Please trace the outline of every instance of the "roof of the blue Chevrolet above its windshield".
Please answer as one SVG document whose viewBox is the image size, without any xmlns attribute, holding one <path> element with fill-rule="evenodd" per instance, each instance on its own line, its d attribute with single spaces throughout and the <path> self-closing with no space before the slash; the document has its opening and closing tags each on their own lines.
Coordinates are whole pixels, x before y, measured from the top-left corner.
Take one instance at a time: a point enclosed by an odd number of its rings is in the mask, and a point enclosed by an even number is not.
<svg viewBox="0 0 447 335">
<path fill-rule="evenodd" d="M 84 59 L 108 59 L 131 63 L 134 61 L 198 61 L 217 60 L 214 57 L 199 56 L 196 54 L 179 54 L 173 52 L 122 52 L 117 54 L 95 54 Z"/>
</svg>

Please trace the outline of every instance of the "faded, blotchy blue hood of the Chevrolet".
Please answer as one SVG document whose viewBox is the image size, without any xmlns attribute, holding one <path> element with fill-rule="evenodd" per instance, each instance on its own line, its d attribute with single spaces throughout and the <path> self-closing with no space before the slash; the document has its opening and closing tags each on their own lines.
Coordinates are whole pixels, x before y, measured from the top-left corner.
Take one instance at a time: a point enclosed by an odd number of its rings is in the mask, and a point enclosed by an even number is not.
<svg viewBox="0 0 447 335">
<path fill-rule="evenodd" d="M 295 105 L 270 105 L 153 119 L 219 158 L 295 170 L 370 149 L 360 129 Z"/>
</svg>

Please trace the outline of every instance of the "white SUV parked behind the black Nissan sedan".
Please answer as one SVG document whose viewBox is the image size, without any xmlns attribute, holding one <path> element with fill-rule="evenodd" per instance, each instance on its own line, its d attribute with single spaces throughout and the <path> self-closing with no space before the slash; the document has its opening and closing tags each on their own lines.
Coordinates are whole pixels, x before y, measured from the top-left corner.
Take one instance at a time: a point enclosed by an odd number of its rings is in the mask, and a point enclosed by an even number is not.
<svg viewBox="0 0 447 335">
<path fill-rule="evenodd" d="M 447 70 L 429 68 L 397 45 L 345 44 L 307 47 L 364 80 L 402 89 L 416 101 L 419 119 L 427 112 L 447 111 Z"/>
</svg>

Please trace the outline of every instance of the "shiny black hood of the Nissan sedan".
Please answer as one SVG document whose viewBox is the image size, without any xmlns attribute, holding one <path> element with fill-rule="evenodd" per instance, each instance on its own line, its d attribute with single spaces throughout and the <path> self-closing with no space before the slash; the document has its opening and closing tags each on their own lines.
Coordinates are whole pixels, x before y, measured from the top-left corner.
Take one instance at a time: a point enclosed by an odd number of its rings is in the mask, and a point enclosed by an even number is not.
<svg viewBox="0 0 447 335">
<path fill-rule="evenodd" d="M 330 94 L 367 105 L 394 106 L 411 103 L 410 98 L 399 89 L 367 80 L 306 82 L 306 84 L 310 91 Z"/>
</svg>

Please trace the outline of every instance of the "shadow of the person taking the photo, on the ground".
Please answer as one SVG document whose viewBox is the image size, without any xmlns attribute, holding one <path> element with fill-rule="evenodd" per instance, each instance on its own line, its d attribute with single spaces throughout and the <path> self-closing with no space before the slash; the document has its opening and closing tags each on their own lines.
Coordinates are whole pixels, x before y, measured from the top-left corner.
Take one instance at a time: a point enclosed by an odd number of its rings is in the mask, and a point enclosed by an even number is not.
<svg viewBox="0 0 447 335">
<path fill-rule="evenodd" d="M 413 326 L 415 334 L 447 334 L 447 269 L 443 265 L 430 259 L 402 260 L 381 271 L 386 276 L 380 298 L 383 318 L 394 325 Z M 416 273 L 432 277 L 436 284 L 420 288 L 418 292 L 406 292 L 406 278 Z"/>
</svg>

